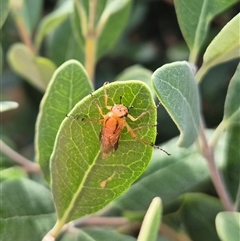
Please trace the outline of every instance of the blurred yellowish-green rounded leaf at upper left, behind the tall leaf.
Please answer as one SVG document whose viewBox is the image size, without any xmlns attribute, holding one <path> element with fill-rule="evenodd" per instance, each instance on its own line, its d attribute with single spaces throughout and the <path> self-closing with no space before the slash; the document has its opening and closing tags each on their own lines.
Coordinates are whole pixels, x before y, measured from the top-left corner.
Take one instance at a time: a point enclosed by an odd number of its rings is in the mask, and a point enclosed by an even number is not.
<svg viewBox="0 0 240 241">
<path fill-rule="evenodd" d="M 11 46 L 8 52 L 11 68 L 41 91 L 45 91 L 56 67 L 47 58 L 35 56 L 24 44 Z"/>
</svg>

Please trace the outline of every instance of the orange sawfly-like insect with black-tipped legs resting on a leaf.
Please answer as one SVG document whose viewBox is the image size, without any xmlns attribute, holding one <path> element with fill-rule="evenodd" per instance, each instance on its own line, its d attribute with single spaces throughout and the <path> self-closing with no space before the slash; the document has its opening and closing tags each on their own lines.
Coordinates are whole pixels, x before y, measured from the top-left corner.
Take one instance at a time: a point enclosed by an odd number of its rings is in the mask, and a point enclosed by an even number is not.
<svg viewBox="0 0 240 241">
<path fill-rule="evenodd" d="M 118 149 L 118 142 L 119 142 L 119 139 L 120 139 L 120 136 L 121 136 L 121 133 L 122 133 L 124 127 L 127 128 L 128 132 L 130 133 L 132 138 L 135 139 L 136 141 L 142 142 L 146 145 L 150 145 L 152 147 L 160 149 L 161 151 L 165 152 L 167 155 L 170 155 L 168 152 L 166 152 L 159 146 L 154 145 L 152 142 L 139 139 L 136 136 L 135 130 L 144 128 L 146 126 L 140 126 L 135 129 L 132 129 L 127 123 L 126 118 L 129 118 L 131 121 L 137 121 L 138 119 L 140 119 L 141 117 L 143 117 L 144 115 L 149 113 L 150 111 L 144 111 L 137 118 L 134 118 L 132 115 L 129 114 L 129 109 L 132 107 L 126 107 L 121 103 L 122 96 L 120 96 L 120 104 L 114 104 L 113 106 L 109 106 L 108 105 L 108 94 L 107 94 L 107 90 L 105 88 L 106 84 L 107 83 L 104 84 L 104 101 L 105 101 L 105 107 L 106 107 L 106 109 L 109 110 L 109 112 L 106 115 L 104 115 L 101 107 L 98 105 L 98 103 L 96 103 L 99 113 L 103 117 L 103 119 L 98 120 L 98 122 L 103 122 L 102 130 L 101 130 L 100 136 L 99 136 L 99 139 L 101 142 L 102 159 L 105 159 L 105 158 L 111 156 L 112 153 Z M 156 108 L 158 108 L 158 106 L 159 105 L 157 105 Z M 82 121 L 84 121 L 84 120 L 94 121 L 91 119 L 82 118 Z M 155 125 L 152 127 L 155 127 Z"/>
</svg>

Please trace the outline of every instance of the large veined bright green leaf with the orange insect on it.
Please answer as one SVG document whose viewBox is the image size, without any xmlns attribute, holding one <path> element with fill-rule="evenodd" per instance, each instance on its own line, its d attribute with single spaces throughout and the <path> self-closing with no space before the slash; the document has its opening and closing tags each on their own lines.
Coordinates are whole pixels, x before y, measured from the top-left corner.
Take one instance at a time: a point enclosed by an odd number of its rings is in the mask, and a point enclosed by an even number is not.
<svg viewBox="0 0 240 241">
<path fill-rule="evenodd" d="M 134 106 L 130 114 L 138 117 L 150 110 L 136 122 L 127 123 L 136 130 L 138 138 L 154 142 L 156 109 L 150 90 L 140 81 L 117 81 L 106 86 L 108 105 L 122 103 Z M 121 195 L 138 178 L 150 161 L 153 148 L 131 137 L 124 128 L 119 146 L 110 157 L 102 159 L 99 133 L 101 123 L 81 121 L 81 118 L 102 119 L 97 103 L 104 108 L 103 88 L 80 101 L 69 113 L 60 127 L 51 156 L 52 192 L 58 214 L 55 227 L 94 213 Z M 146 126 L 147 125 L 147 126 Z"/>
</svg>

